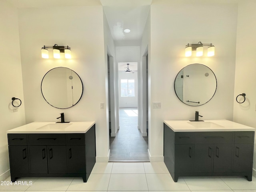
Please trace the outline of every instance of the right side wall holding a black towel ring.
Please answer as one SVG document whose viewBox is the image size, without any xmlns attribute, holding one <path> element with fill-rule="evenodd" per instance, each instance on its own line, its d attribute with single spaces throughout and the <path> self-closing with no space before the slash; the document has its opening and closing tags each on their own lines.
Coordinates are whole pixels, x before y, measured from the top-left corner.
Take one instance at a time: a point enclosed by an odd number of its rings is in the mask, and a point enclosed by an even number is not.
<svg viewBox="0 0 256 192">
<path fill-rule="evenodd" d="M 238 4 L 236 39 L 236 76 L 234 90 L 234 122 L 256 128 L 256 1 L 241 0 Z M 236 96 L 246 94 L 246 101 L 236 102 Z M 241 96 L 238 98 L 241 98 Z M 254 175 L 256 175 L 256 141 L 254 141 Z"/>
</svg>

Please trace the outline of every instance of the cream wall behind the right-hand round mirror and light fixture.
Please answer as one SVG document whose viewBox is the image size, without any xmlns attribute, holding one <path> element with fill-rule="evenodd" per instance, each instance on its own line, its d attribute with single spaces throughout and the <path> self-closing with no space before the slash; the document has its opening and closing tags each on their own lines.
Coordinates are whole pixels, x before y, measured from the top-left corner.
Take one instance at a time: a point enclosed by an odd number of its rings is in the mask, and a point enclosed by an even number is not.
<svg viewBox="0 0 256 192">
<path fill-rule="evenodd" d="M 162 102 L 161 109 L 150 108 L 151 161 L 163 160 L 163 120 L 190 120 L 196 110 L 205 120 L 233 118 L 237 5 L 172 2 L 158 0 L 151 5 L 149 102 Z M 185 45 L 199 41 L 213 43 L 216 55 L 185 58 Z M 198 107 L 182 103 L 174 92 L 176 75 L 192 63 L 211 68 L 218 82 L 212 100 Z"/>
</svg>

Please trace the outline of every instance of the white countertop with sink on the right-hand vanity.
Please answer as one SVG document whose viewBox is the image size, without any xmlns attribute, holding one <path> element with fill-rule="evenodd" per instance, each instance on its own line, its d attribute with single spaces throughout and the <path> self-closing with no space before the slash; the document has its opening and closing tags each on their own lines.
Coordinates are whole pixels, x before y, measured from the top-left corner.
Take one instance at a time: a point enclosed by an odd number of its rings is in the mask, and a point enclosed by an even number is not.
<svg viewBox="0 0 256 192">
<path fill-rule="evenodd" d="M 165 120 L 164 123 L 174 132 L 255 131 L 255 128 L 229 120 L 204 120 L 203 122 L 190 122 L 188 120 Z"/>
</svg>

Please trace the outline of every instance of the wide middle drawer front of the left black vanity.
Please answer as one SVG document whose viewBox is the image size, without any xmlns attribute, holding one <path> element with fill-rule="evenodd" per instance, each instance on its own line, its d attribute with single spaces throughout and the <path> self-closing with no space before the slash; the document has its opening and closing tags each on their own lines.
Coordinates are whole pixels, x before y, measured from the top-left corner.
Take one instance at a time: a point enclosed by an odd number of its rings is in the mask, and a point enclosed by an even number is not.
<svg viewBox="0 0 256 192">
<path fill-rule="evenodd" d="M 65 134 L 28 134 L 29 145 L 66 145 Z"/>
</svg>

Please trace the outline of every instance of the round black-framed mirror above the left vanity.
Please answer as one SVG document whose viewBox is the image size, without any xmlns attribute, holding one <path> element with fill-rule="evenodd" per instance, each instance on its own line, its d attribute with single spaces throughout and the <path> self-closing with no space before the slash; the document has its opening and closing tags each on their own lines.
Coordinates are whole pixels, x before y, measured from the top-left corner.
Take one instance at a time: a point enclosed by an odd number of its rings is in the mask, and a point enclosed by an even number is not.
<svg viewBox="0 0 256 192">
<path fill-rule="evenodd" d="M 76 72 L 66 67 L 48 71 L 41 83 L 41 91 L 48 104 L 66 109 L 79 102 L 83 94 L 83 83 Z"/>
</svg>

